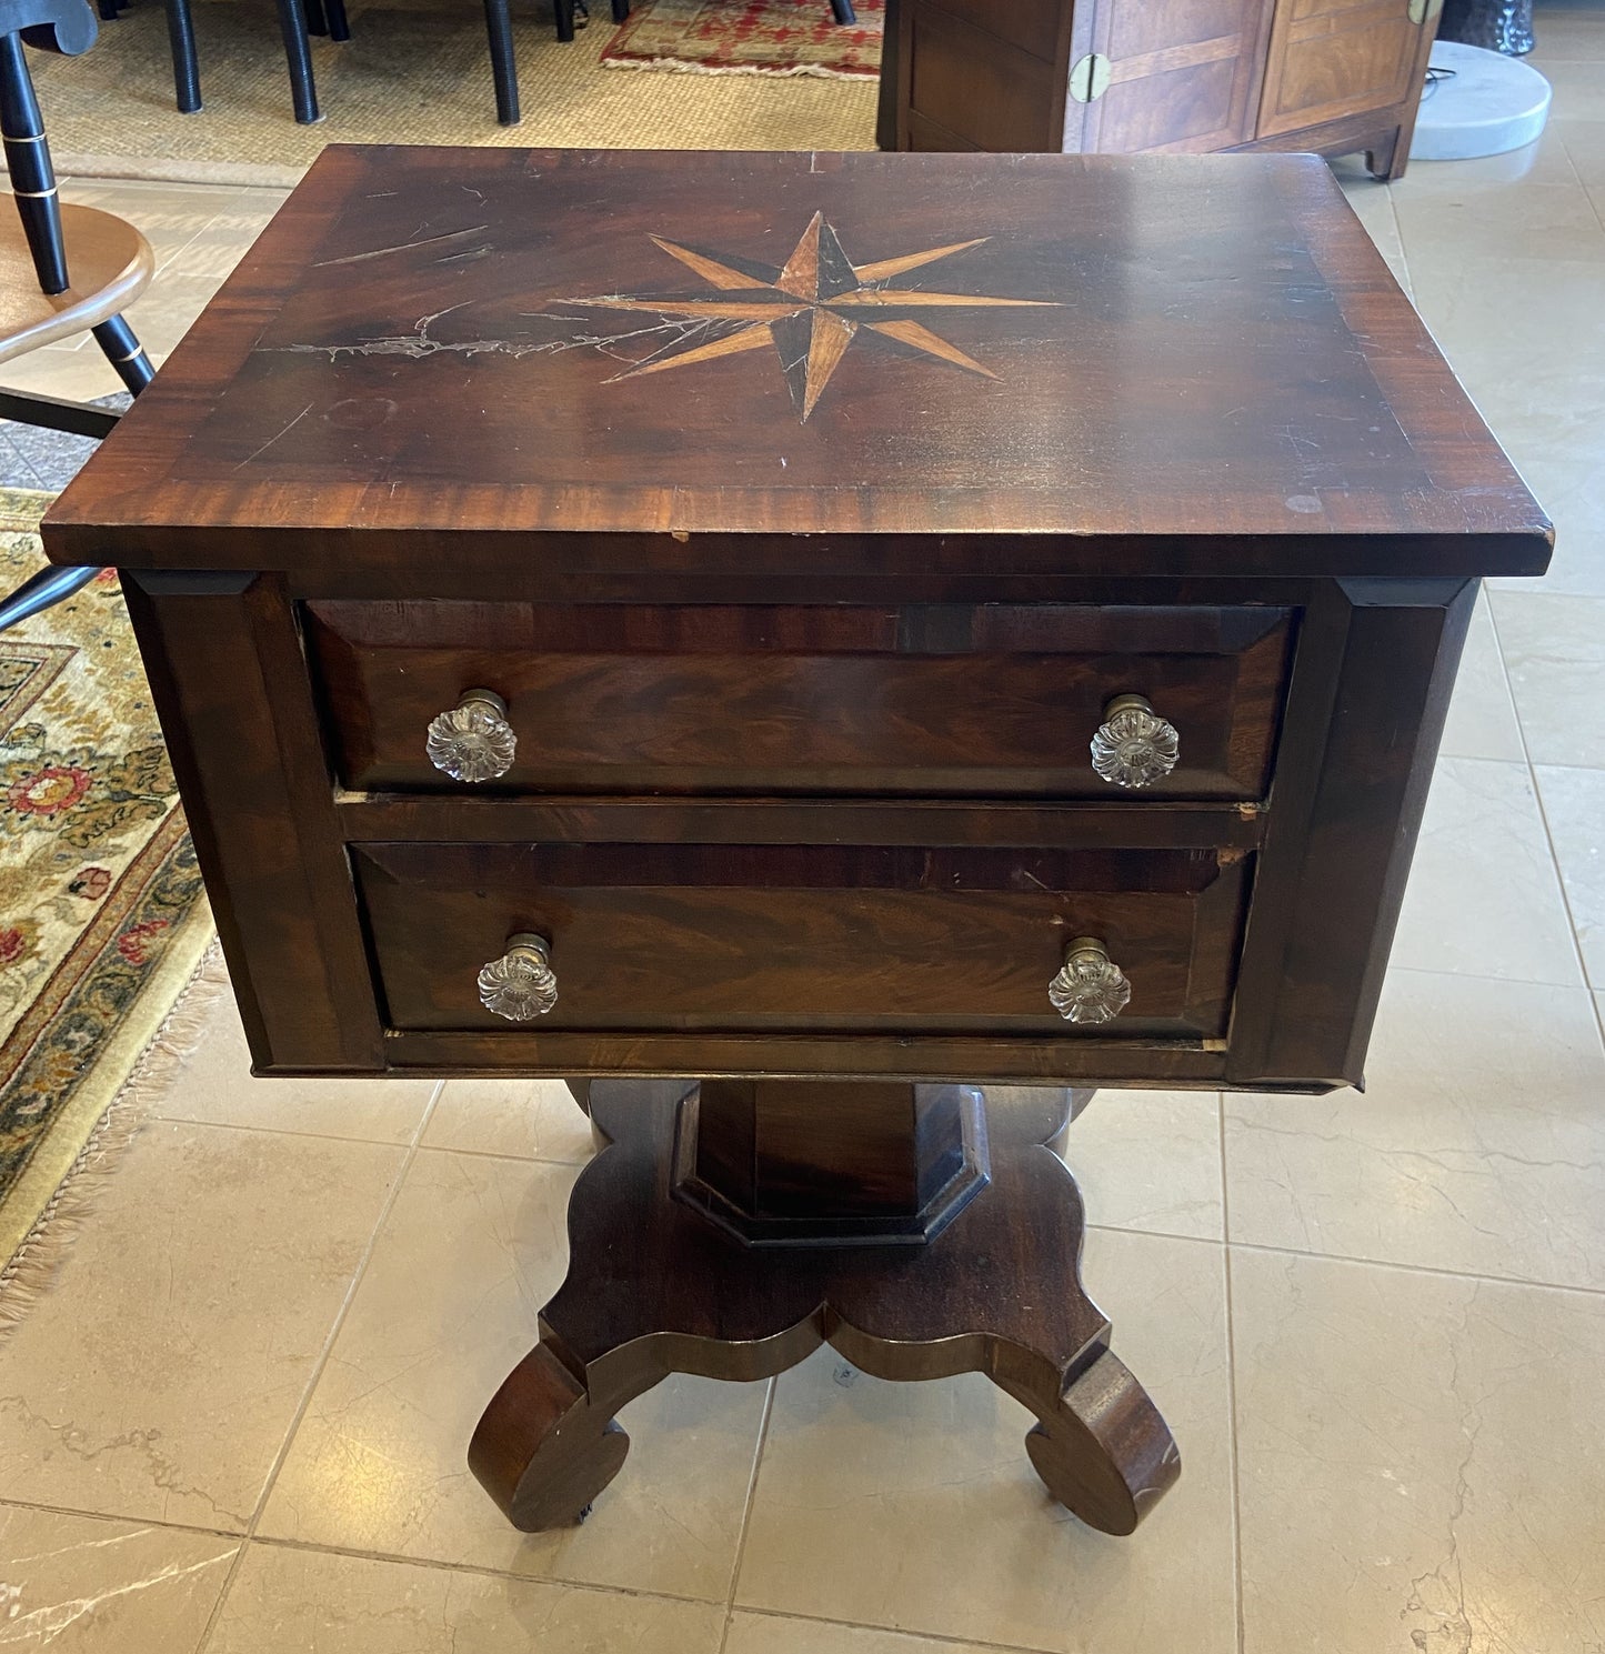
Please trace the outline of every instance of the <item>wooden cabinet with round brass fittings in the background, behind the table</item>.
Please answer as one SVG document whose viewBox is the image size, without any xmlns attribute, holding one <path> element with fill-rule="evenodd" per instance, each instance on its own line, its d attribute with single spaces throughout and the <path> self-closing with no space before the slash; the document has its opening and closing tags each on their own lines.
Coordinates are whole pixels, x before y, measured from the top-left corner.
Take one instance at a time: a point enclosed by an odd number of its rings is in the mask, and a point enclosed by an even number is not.
<svg viewBox="0 0 1605 1654">
<path fill-rule="evenodd" d="M 1363 151 L 1398 177 L 1435 0 L 889 0 L 884 149 Z"/>
</svg>

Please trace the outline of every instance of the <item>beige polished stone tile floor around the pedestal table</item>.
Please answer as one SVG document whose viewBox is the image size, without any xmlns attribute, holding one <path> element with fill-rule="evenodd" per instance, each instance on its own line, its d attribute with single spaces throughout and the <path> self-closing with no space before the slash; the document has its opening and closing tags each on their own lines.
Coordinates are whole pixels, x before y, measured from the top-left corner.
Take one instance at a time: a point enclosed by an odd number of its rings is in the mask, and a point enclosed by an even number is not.
<svg viewBox="0 0 1605 1654">
<path fill-rule="evenodd" d="M 265 1083 L 218 1009 L 0 1343 L 0 1647 L 58 1654 L 1597 1654 L 1605 1647 L 1605 8 L 1540 12 L 1536 154 L 1355 179 L 1560 531 L 1456 693 L 1363 1097 L 1105 1095 L 1087 1277 L 1181 1439 L 1128 1542 L 986 1381 L 822 1351 L 630 1409 L 594 1520 L 463 1467 L 563 1267 L 554 1085 Z M 139 220 L 162 354 L 261 190 Z M 113 389 L 93 347 L 13 380 Z"/>
</svg>

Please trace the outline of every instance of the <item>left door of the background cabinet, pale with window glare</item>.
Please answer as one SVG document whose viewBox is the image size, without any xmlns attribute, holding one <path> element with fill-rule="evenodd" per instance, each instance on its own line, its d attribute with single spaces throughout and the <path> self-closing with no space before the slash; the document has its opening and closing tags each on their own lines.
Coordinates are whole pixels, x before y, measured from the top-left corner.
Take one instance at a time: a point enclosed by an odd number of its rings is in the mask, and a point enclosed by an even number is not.
<svg viewBox="0 0 1605 1654">
<path fill-rule="evenodd" d="M 1090 50 L 1109 60 L 1109 89 L 1071 104 L 1085 111 L 1079 147 L 1205 152 L 1251 139 L 1269 17 L 1271 0 L 1105 0 Z"/>
</svg>

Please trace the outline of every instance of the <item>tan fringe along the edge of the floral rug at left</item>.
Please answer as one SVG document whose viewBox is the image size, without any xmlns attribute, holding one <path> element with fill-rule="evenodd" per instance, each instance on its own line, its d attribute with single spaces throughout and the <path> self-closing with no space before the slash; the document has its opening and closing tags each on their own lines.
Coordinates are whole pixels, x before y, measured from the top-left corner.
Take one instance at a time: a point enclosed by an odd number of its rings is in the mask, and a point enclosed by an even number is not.
<svg viewBox="0 0 1605 1654">
<path fill-rule="evenodd" d="M 45 1295 L 94 1207 L 94 1196 L 111 1179 L 129 1143 L 139 1136 L 152 1105 L 184 1060 L 200 1044 L 207 1014 L 228 987 L 223 953 L 213 936 L 190 973 L 172 1011 L 139 1054 L 132 1072 L 96 1121 L 89 1140 L 35 1219 L 22 1245 L 0 1267 L 0 1338 L 26 1320 Z"/>
</svg>

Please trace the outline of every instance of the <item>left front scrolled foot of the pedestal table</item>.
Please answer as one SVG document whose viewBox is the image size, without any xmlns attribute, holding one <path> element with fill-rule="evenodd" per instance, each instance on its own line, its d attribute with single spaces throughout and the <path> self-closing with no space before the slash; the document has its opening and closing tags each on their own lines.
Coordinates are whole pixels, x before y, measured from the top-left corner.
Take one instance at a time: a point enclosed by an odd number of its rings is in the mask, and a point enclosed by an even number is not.
<svg viewBox="0 0 1605 1654">
<path fill-rule="evenodd" d="M 539 1533 L 584 1520 L 629 1451 L 612 1408 L 592 1406 L 584 1384 L 541 1343 L 491 1398 L 468 1444 L 468 1469 L 515 1528 Z"/>
</svg>

